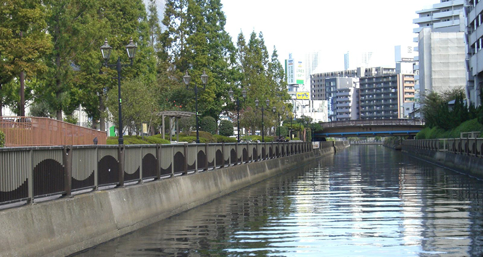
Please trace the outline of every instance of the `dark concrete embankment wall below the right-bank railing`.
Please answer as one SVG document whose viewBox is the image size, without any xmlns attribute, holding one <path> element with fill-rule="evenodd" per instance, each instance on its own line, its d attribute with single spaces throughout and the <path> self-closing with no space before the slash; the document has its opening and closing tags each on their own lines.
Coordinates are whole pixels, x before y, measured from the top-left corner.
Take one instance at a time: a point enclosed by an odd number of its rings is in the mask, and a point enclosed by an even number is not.
<svg viewBox="0 0 483 257">
<path fill-rule="evenodd" d="M 483 179 L 483 159 L 471 155 L 431 151 L 402 145 L 402 152 L 470 176 Z"/>
</svg>

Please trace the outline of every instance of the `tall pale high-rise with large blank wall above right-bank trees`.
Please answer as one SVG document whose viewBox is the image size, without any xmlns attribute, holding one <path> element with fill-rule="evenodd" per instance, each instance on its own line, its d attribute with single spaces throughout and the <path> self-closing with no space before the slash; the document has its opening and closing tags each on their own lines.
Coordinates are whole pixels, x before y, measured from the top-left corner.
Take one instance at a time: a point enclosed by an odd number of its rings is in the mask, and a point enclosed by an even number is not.
<svg viewBox="0 0 483 257">
<path fill-rule="evenodd" d="M 466 86 L 462 82 L 462 73 L 466 69 L 463 31 L 463 0 L 441 0 L 432 8 L 417 11 L 419 18 L 413 23 L 419 25 L 413 29 L 418 36 L 414 58 L 415 88 L 421 97 L 428 91 L 440 91 Z M 419 62 L 419 63 L 418 63 Z M 418 94 L 417 94 L 418 95 Z"/>
</svg>

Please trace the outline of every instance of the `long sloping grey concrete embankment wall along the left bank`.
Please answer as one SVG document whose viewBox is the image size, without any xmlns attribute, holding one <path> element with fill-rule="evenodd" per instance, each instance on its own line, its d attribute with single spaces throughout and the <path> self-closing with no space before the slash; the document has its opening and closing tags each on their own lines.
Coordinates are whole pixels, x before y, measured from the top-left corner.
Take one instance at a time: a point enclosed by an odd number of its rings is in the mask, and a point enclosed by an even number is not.
<svg viewBox="0 0 483 257">
<path fill-rule="evenodd" d="M 334 153 L 331 147 L 0 211 L 0 256 L 72 254 Z"/>
</svg>

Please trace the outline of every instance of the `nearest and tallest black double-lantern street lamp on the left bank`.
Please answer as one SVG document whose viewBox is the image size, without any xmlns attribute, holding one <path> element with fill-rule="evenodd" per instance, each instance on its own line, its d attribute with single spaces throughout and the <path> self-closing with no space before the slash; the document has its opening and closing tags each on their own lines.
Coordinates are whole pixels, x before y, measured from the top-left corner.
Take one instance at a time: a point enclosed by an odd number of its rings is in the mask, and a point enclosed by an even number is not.
<svg viewBox="0 0 483 257">
<path fill-rule="evenodd" d="M 123 128 L 122 128 L 121 70 L 122 70 L 122 67 L 133 65 L 133 59 L 134 59 L 134 56 L 136 55 L 137 48 L 138 47 L 133 42 L 133 38 L 131 38 L 131 40 L 129 40 L 129 44 L 127 44 L 126 46 L 127 57 L 129 58 L 129 60 L 131 60 L 131 62 L 129 62 L 129 64 L 121 64 L 121 57 L 118 57 L 116 64 L 107 64 L 107 61 L 109 60 L 109 57 L 110 57 L 110 52 L 113 50 L 113 48 L 109 46 L 109 44 L 107 43 L 107 39 L 106 41 L 104 41 L 104 45 L 101 46 L 102 58 L 104 58 L 104 66 L 117 70 L 118 105 L 119 105 L 119 128 L 118 128 L 119 144 L 124 144 L 124 138 L 122 137 Z"/>
</svg>

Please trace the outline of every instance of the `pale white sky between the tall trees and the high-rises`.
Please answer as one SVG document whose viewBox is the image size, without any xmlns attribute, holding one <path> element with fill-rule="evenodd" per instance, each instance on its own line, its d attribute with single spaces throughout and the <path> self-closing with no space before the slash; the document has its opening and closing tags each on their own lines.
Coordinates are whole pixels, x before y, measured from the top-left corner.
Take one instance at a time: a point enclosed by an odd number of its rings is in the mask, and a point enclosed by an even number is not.
<svg viewBox="0 0 483 257">
<path fill-rule="evenodd" d="M 375 66 L 395 67 L 394 46 L 415 44 L 416 11 L 439 2 L 221 0 L 235 43 L 240 30 L 246 40 L 253 30 L 262 31 L 269 53 L 275 45 L 281 61 L 290 52 L 302 59 L 304 52 L 321 50 L 323 71 L 343 70 L 347 51 L 372 51 Z"/>
</svg>

